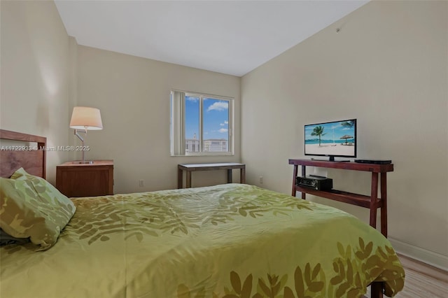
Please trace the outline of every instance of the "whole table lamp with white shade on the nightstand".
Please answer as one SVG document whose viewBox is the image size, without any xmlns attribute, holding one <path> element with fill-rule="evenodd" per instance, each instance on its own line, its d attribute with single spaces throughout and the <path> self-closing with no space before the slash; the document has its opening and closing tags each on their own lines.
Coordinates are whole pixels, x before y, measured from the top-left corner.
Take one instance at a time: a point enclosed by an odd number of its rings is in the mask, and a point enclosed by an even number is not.
<svg viewBox="0 0 448 298">
<path fill-rule="evenodd" d="M 93 164 L 92 161 L 85 161 L 84 159 L 84 138 L 80 136 L 80 132 L 87 134 L 87 130 L 103 129 L 101 120 L 101 113 L 98 108 L 89 108 L 87 106 L 75 106 L 73 113 L 71 113 L 70 128 L 75 129 L 75 136 L 83 142 L 81 148 L 83 152 L 83 160 L 73 162 L 75 164 Z"/>
</svg>

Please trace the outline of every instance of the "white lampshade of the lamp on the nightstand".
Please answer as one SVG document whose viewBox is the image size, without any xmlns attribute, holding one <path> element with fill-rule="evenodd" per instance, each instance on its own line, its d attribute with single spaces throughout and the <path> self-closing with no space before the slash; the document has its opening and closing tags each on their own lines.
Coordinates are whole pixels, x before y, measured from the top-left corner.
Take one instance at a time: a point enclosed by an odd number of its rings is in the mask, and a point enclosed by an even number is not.
<svg viewBox="0 0 448 298">
<path fill-rule="evenodd" d="M 99 130 L 103 129 L 101 113 L 98 108 L 75 106 L 71 113 L 70 128 Z"/>
</svg>

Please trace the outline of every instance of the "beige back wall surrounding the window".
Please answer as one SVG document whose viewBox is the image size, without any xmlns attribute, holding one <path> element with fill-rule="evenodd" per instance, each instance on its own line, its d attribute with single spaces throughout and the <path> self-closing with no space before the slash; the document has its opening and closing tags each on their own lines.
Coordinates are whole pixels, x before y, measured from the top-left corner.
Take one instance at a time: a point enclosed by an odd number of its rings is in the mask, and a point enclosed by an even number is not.
<svg viewBox="0 0 448 298">
<path fill-rule="evenodd" d="M 104 126 L 88 132 L 85 144 L 92 149 L 86 158 L 114 160 L 116 193 L 176 188 L 177 164 L 240 161 L 240 78 L 85 46 L 77 50 L 77 104 L 99 108 Z M 234 156 L 170 156 L 172 89 L 235 98 Z M 234 173 L 237 181 L 239 173 Z M 225 171 L 196 172 L 192 186 L 226 179 Z"/>
</svg>

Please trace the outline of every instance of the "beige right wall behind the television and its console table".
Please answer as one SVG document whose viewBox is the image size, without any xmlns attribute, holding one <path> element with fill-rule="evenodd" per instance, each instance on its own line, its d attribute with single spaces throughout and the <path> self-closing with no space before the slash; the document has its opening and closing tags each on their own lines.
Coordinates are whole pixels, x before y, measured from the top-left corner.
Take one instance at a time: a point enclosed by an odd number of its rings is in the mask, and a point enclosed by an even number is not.
<svg viewBox="0 0 448 298">
<path fill-rule="evenodd" d="M 290 193 L 288 159 L 304 157 L 303 126 L 357 118 L 358 157 L 395 164 L 388 173 L 390 238 L 447 268 L 447 10 L 446 1 L 372 1 L 244 76 L 248 183 L 263 176 L 262 186 Z M 328 176 L 337 189 L 370 193 L 369 173 Z M 367 209 L 313 199 L 368 222 Z"/>
</svg>

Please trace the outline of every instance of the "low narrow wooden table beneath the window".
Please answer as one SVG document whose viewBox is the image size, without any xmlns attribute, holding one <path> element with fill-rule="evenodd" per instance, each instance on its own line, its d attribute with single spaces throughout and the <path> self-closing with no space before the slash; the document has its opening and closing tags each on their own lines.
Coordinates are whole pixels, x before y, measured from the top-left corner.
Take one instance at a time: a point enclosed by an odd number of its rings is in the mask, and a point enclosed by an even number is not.
<svg viewBox="0 0 448 298">
<path fill-rule="evenodd" d="M 219 164 L 178 164 L 177 188 L 183 188 L 183 171 L 187 172 L 186 188 L 191 187 L 191 172 L 227 170 L 227 183 L 232 183 L 232 169 L 240 169 L 239 183 L 246 183 L 246 164 L 236 162 L 222 162 Z"/>
</svg>

